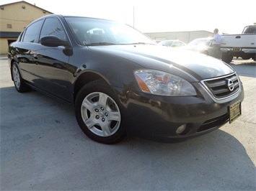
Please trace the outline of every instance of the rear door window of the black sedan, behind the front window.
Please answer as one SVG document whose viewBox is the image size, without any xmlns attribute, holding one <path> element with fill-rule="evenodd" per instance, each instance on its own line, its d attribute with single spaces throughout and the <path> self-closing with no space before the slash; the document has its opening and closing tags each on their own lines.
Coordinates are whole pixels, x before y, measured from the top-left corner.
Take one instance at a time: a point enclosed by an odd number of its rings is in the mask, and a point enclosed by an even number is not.
<svg viewBox="0 0 256 191">
<path fill-rule="evenodd" d="M 40 28 L 42 26 L 43 20 L 40 20 L 38 22 L 35 22 L 33 24 L 31 24 L 29 27 L 27 27 L 25 34 L 24 34 L 24 38 L 23 38 L 23 42 L 34 42 L 37 43 L 38 42 L 38 35 L 40 32 Z"/>
</svg>

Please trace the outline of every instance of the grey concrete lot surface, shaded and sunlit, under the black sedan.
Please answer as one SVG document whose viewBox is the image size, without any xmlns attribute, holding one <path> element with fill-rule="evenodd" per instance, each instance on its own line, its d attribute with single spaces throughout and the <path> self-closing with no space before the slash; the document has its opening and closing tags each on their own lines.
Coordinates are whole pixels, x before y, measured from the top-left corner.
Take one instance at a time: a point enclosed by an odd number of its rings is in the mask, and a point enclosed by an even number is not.
<svg viewBox="0 0 256 191">
<path fill-rule="evenodd" d="M 17 93 L 0 58 L 0 190 L 256 190 L 256 62 L 230 64 L 244 83 L 242 116 L 175 144 L 129 136 L 98 144 L 71 106 Z"/>
</svg>

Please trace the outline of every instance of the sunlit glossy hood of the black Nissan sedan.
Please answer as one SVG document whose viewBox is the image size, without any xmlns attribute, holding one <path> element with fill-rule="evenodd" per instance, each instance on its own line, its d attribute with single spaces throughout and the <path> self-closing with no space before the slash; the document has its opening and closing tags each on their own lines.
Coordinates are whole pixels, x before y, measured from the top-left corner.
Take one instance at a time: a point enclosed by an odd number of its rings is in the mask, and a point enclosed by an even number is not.
<svg viewBox="0 0 256 191">
<path fill-rule="evenodd" d="M 173 65 L 190 73 L 197 80 L 234 73 L 234 70 L 221 60 L 187 50 L 158 45 L 110 45 L 90 48 L 123 57 L 144 68 L 161 70 L 161 65 Z"/>
</svg>

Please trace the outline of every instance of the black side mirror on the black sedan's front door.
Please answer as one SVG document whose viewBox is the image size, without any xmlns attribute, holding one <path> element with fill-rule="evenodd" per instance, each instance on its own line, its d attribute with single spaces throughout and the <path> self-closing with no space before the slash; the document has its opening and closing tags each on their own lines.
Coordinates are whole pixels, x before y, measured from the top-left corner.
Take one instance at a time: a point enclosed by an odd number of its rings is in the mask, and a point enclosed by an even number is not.
<svg viewBox="0 0 256 191">
<path fill-rule="evenodd" d="M 40 44 L 47 47 L 64 46 L 69 47 L 69 42 L 64 41 L 56 36 L 45 36 L 40 39 Z"/>
</svg>

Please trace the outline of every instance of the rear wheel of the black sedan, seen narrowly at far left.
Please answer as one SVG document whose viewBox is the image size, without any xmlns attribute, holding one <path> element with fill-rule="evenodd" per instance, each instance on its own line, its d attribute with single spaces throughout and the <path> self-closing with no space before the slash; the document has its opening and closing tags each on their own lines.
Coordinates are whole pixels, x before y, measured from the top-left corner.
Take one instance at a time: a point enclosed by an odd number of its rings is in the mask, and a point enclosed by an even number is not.
<svg viewBox="0 0 256 191">
<path fill-rule="evenodd" d="M 16 62 L 12 64 L 12 78 L 14 81 L 14 86 L 19 93 L 25 93 L 31 90 L 30 86 L 27 85 L 22 79 Z"/>
</svg>

